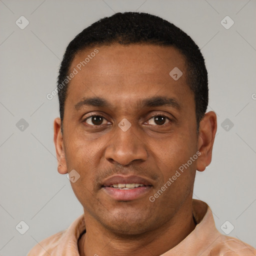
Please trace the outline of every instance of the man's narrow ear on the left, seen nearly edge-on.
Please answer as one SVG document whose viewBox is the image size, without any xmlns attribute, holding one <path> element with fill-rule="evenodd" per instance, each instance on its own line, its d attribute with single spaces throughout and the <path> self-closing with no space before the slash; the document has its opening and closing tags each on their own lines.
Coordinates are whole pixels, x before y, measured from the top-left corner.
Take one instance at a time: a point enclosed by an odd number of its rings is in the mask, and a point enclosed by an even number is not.
<svg viewBox="0 0 256 256">
<path fill-rule="evenodd" d="M 60 174 L 65 174 L 67 173 L 67 168 L 63 146 L 63 135 L 61 133 L 61 121 L 59 117 L 54 119 L 54 144 L 58 160 L 58 172 Z"/>
</svg>

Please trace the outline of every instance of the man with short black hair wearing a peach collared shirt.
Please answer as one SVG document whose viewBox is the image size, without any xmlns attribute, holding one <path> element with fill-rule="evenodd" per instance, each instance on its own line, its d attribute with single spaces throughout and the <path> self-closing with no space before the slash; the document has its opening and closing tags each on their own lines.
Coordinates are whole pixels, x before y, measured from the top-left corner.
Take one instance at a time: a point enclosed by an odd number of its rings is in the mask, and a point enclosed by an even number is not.
<svg viewBox="0 0 256 256">
<path fill-rule="evenodd" d="M 58 172 L 84 214 L 28 256 L 256 255 L 192 199 L 216 115 L 205 113 L 207 71 L 186 33 L 146 13 L 100 19 L 67 46 L 56 90 Z"/>
</svg>

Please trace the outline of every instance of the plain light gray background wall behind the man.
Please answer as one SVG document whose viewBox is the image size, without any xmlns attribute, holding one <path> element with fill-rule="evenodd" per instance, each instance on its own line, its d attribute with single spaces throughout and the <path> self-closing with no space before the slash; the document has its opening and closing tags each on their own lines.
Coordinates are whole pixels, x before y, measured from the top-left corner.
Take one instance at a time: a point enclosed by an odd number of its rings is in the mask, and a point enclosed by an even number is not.
<svg viewBox="0 0 256 256">
<path fill-rule="evenodd" d="M 193 197 L 210 205 L 220 232 L 256 247 L 255 0 L 0 0 L 0 256 L 26 255 L 82 214 L 69 180 L 57 172 L 58 102 L 46 94 L 78 32 L 135 10 L 173 22 L 201 48 L 218 129 L 212 162 L 197 172 Z M 15 24 L 21 15 L 29 21 L 24 29 Z M 226 15 L 234 21 L 229 29 L 220 23 Z M 29 226 L 23 235 L 15 229 L 21 220 Z"/>
</svg>

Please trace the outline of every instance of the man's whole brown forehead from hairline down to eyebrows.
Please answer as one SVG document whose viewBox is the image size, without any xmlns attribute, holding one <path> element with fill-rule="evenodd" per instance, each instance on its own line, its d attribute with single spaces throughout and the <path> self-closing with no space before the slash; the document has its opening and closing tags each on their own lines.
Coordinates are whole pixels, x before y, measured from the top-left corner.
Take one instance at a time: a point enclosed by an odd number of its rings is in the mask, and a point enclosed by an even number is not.
<svg viewBox="0 0 256 256">
<path fill-rule="evenodd" d="M 86 48 L 77 52 L 71 63 L 69 71 L 76 69 L 77 74 L 69 82 L 67 99 L 77 103 L 90 95 L 120 104 L 159 93 L 190 94 L 185 66 L 185 57 L 170 46 L 112 44 Z M 169 74 L 176 68 L 182 72 L 178 80 Z"/>
</svg>

